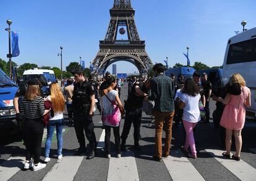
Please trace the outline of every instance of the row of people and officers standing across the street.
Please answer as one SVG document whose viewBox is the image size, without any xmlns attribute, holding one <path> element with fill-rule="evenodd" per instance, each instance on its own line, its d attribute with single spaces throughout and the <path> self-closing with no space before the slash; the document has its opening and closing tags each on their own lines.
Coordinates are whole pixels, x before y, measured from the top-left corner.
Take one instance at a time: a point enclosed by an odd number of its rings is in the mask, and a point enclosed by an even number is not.
<svg viewBox="0 0 256 181">
<path fill-rule="evenodd" d="M 245 106 L 250 107 L 250 90 L 245 85 L 245 80 L 240 74 L 233 74 L 229 83 L 221 88 L 221 94 L 211 92 L 211 83 L 207 74 L 195 72 L 192 78 L 175 75 L 164 75 L 164 65 L 155 64 L 155 73 L 152 78 L 132 78 L 128 82 L 128 98 L 124 105 L 120 99 L 122 81 L 116 80 L 109 72 L 103 79 L 94 80 L 86 78 L 82 70 L 74 71 L 74 79 L 67 79 L 64 93 L 58 83 L 49 83 L 49 95 L 43 98 L 40 92 L 40 82 L 30 80 L 27 86 L 20 86 L 14 98 L 17 120 L 23 122 L 23 140 L 26 147 L 26 161 L 24 169 L 33 167 L 33 170 L 43 169 L 46 164 L 40 162 L 41 142 L 43 128 L 47 127 L 45 143 L 45 162 L 50 161 L 49 151 L 56 128 L 58 139 L 58 159 L 62 159 L 62 128 L 65 104 L 70 125 L 74 125 L 79 149 L 74 153 L 79 156 L 87 151 L 85 136 L 89 141 L 90 151 L 87 159 L 96 156 L 96 137 L 93 124 L 95 105 L 101 114 L 103 128 L 105 129 L 106 158 L 111 158 L 111 128 L 114 132 L 116 157 L 121 158 L 121 151 L 126 151 L 126 140 L 131 125 L 134 125 L 134 148 L 141 149 L 140 124 L 144 104 L 153 103 L 153 116 L 155 116 L 155 154 L 153 159 L 161 161 L 169 156 L 172 138 L 173 120 L 176 126 L 182 122 L 186 131 L 186 140 L 181 147 L 182 151 L 190 158 L 197 158 L 195 148 L 194 128 L 202 120 L 209 122 L 210 96 L 216 101 L 216 106 L 222 105 L 218 114 L 213 119 L 220 122 L 226 129 L 226 151 L 223 156 L 231 158 L 232 136 L 235 137 L 236 153 L 233 159 L 239 161 L 242 148 L 241 130 L 245 122 Z M 201 107 L 200 107 L 201 105 Z M 226 106 L 225 106 L 226 105 Z M 202 108 L 202 109 L 201 109 Z M 124 116 L 124 127 L 120 135 L 121 117 Z M 222 114 L 223 113 L 223 114 Z M 218 116 L 216 116 L 218 115 Z M 162 132 L 166 134 L 164 151 L 162 153 Z M 189 150 L 190 148 L 190 150 Z M 32 162 L 33 158 L 33 162 Z"/>
</svg>

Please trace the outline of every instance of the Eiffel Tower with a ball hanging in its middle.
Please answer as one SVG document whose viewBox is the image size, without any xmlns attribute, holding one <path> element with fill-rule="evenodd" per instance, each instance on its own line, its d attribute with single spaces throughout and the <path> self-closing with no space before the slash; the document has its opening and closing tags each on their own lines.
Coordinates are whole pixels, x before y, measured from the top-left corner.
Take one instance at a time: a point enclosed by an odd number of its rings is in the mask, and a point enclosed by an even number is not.
<svg viewBox="0 0 256 181">
<path fill-rule="evenodd" d="M 104 75 L 109 65 L 117 61 L 134 64 L 141 75 L 153 66 L 145 51 L 145 41 L 140 40 L 134 14 L 130 0 L 114 0 L 105 40 L 100 41 L 100 51 L 90 65 L 95 76 Z"/>
</svg>

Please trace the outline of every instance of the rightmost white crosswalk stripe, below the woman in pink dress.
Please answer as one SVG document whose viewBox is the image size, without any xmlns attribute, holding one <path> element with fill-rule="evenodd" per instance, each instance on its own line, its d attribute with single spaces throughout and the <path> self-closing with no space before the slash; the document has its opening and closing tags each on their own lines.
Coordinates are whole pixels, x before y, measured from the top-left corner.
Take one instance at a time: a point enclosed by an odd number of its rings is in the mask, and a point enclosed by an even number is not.
<svg viewBox="0 0 256 181">
<path fill-rule="evenodd" d="M 234 161 L 233 159 L 224 159 L 222 156 L 223 151 L 217 149 L 205 149 L 211 156 L 219 161 L 224 167 L 226 167 L 232 174 L 240 180 L 255 180 L 256 169 L 250 166 L 246 162 Z"/>
</svg>

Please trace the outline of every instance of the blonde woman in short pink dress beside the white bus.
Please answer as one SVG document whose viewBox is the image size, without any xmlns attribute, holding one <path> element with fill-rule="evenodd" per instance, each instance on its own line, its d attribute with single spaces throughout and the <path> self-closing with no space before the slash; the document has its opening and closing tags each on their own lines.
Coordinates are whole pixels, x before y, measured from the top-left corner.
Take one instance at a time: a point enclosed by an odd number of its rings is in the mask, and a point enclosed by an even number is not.
<svg viewBox="0 0 256 181">
<path fill-rule="evenodd" d="M 239 90 L 239 93 L 241 93 L 234 95 L 228 91 L 224 99 L 213 96 L 213 100 L 226 104 L 220 121 L 220 125 L 226 128 L 226 152 L 223 153 L 223 156 L 231 158 L 230 151 L 232 136 L 234 135 L 236 153 L 233 154 L 232 158 L 239 161 L 242 148 L 241 132 L 245 122 L 245 106 L 251 106 L 250 89 L 245 86 L 245 80 L 240 74 L 231 75 L 229 78 L 229 86 L 231 86 L 233 90 Z"/>
</svg>

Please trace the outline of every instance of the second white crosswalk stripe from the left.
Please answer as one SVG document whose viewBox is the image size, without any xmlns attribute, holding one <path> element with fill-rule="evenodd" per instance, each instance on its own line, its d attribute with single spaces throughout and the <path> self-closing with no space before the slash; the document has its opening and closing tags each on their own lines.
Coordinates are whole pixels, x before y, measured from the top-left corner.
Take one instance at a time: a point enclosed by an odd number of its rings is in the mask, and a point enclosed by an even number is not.
<svg viewBox="0 0 256 181">
<path fill-rule="evenodd" d="M 83 156 L 64 156 L 54 164 L 43 180 L 74 180 L 82 161 Z"/>
</svg>

